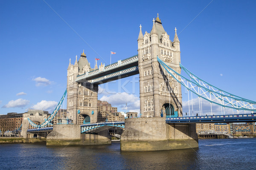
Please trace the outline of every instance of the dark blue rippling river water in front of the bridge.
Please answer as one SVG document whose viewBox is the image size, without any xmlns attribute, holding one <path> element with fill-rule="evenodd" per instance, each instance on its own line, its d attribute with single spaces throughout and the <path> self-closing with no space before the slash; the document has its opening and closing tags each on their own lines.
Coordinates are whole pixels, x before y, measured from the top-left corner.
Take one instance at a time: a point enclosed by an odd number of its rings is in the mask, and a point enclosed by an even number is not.
<svg viewBox="0 0 256 170">
<path fill-rule="evenodd" d="M 0 170 L 256 170 L 256 138 L 201 139 L 198 149 L 121 152 L 120 143 L 0 144 Z"/>
</svg>

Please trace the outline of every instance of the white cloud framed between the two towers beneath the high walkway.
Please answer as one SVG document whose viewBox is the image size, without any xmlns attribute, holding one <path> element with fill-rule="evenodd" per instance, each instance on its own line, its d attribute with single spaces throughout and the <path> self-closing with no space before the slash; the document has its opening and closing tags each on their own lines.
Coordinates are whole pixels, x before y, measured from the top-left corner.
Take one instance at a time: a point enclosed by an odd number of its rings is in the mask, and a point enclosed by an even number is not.
<svg viewBox="0 0 256 170">
<path fill-rule="evenodd" d="M 126 103 L 128 110 L 140 109 L 140 98 L 134 94 L 117 93 L 110 96 L 102 96 L 100 100 L 107 101 L 112 106 L 120 106 L 123 110 L 126 109 Z"/>
</svg>

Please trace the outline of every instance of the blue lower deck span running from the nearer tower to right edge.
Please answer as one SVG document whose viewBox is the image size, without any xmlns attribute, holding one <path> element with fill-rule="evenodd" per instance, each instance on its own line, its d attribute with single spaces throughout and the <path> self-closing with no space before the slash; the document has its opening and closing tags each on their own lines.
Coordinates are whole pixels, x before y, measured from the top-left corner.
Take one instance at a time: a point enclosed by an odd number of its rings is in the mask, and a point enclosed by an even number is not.
<svg viewBox="0 0 256 170">
<path fill-rule="evenodd" d="M 166 123 L 256 122 L 256 113 L 166 118 Z"/>
</svg>

